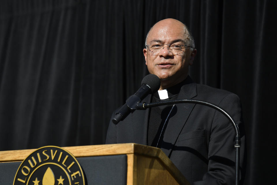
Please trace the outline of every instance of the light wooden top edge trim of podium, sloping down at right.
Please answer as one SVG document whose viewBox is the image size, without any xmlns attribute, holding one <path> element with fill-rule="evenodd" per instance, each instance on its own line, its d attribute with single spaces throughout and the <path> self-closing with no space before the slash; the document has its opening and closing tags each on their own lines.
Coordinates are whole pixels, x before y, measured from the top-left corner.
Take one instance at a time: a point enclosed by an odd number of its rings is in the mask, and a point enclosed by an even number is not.
<svg viewBox="0 0 277 185">
<path fill-rule="evenodd" d="M 187 180 L 165 153 L 156 147 L 149 147 L 135 143 L 88 145 L 75 147 L 62 147 L 72 153 L 76 158 L 89 156 L 109 156 L 122 154 L 135 154 L 156 158 L 171 173 L 180 184 L 186 184 Z M 0 151 L 0 162 L 23 161 L 37 149 Z"/>
</svg>

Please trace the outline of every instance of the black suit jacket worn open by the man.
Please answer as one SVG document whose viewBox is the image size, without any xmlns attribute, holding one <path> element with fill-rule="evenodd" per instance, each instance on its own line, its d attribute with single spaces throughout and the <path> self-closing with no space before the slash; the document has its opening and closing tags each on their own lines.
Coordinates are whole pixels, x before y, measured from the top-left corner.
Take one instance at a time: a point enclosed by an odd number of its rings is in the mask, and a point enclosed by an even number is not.
<svg viewBox="0 0 277 185">
<path fill-rule="evenodd" d="M 177 99 L 208 101 L 230 113 L 241 130 L 240 166 L 244 166 L 245 135 L 238 96 L 225 90 L 190 83 L 181 87 Z M 150 101 L 151 95 L 143 100 Z M 175 115 L 170 116 L 163 140 L 160 141 L 162 151 L 195 185 L 235 184 L 235 131 L 229 120 L 217 110 L 199 104 L 182 103 L 174 108 Z M 106 144 L 146 145 L 148 118 L 149 110 L 136 110 L 117 125 L 110 121 Z"/>
</svg>

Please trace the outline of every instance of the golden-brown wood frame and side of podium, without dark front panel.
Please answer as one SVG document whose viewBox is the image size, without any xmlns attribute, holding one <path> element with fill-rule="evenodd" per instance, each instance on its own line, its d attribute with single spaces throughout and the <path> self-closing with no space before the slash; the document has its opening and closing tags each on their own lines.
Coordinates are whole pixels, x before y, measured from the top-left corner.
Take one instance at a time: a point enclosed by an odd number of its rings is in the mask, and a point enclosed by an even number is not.
<svg viewBox="0 0 277 185">
<path fill-rule="evenodd" d="M 189 182 L 164 154 L 156 147 L 135 143 L 62 147 L 76 158 L 88 156 L 127 155 L 127 184 L 184 184 Z M 23 161 L 37 149 L 0 151 L 0 162 Z M 163 180 L 162 180 L 163 179 Z"/>
</svg>

